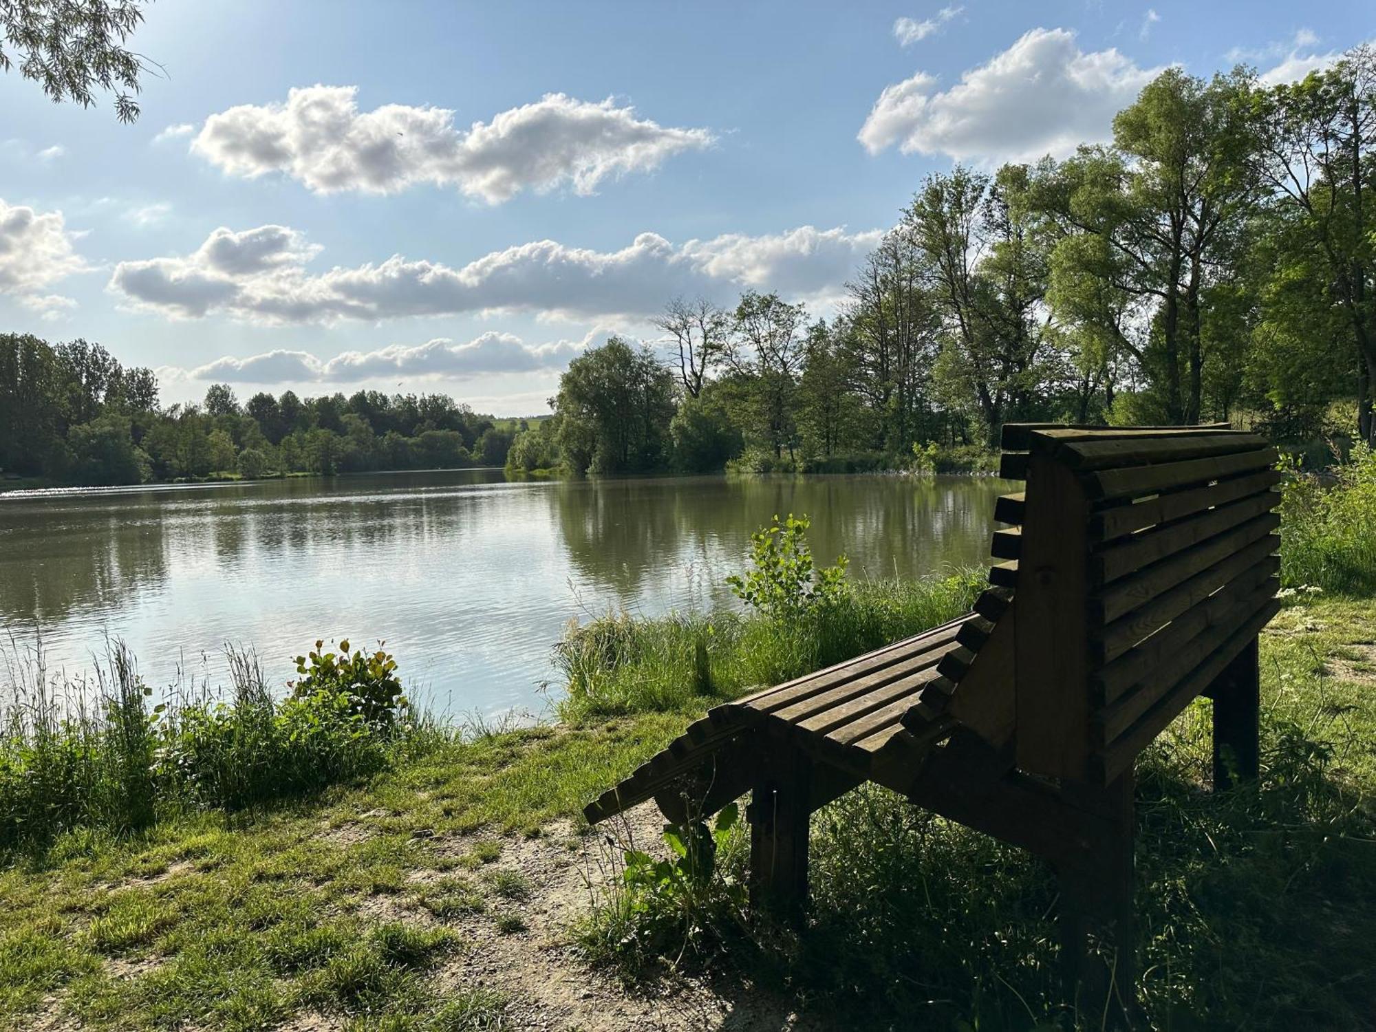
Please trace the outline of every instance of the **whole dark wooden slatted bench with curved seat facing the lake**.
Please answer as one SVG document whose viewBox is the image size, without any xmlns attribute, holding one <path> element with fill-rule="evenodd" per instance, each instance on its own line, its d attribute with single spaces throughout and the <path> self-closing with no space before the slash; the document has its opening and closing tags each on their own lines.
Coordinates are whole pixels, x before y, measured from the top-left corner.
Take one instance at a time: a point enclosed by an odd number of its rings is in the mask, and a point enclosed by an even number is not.
<svg viewBox="0 0 1376 1032">
<path fill-rule="evenodd" d="M 870 780 L 1024 846 L 1060 879 L 1071 980 L 1131 1002 L 1132 765 L 1214 700 L 1214 783 L 1258 773 L 1258 633 L 1276 614 L 1274 451 L 1225 425 L 1010 424 L 999 560 L 974 611 L 717 706 L 589 804 L 673 821 L 751 794 L 751 901 L 795 915 L 808 819 Z M 1119 947 L 1113 967 L 1090 938 Z"/>
</svg>

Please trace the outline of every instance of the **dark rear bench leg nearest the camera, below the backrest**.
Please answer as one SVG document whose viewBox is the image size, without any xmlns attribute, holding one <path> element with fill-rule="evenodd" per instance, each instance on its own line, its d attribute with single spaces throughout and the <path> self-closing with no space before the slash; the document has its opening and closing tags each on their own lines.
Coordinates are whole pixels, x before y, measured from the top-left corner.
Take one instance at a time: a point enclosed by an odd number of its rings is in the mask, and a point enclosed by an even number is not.
<svg viewBox="0 0 1376 1032">
<path fill-rule="evenodd" d="M 1061 969 L 1079 1007 L 1131 1024 L 1137 1007 L 1137 914 L 1132 905 L 1132 773 L 1108 788 L 1065 784 L 1066 802 L 1086 812 L 1087 848 L 1057 870 L 1061 890 Z M 1091 938 L 1106 955 L 1091 951 Z"/>
</svg>

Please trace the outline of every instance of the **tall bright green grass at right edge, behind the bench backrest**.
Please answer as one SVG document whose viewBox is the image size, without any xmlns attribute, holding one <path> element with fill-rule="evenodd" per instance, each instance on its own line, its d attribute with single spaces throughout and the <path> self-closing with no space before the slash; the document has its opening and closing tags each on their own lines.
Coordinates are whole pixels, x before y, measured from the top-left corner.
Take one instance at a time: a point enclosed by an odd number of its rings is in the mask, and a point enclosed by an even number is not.
<svg viewBox="0 0 1376 1032">
<path fill-rule="evenodd" d="M 1376 593 L 1376 451 L 1358 443 L 1325 476 L 1291 464 L 1281 487 L 1285 588 Z"/>
</svg>

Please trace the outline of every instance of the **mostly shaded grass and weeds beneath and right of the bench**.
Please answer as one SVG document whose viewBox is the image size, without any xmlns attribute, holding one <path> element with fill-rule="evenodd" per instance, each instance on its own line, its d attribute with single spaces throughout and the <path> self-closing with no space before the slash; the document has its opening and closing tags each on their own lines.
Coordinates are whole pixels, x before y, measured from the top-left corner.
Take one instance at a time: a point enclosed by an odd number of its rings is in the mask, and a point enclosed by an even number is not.
<svg viewBox="0 0 1376 1032">
<path fill-rule="evenodd" d="M 1376 910 L 1357 903 L 1376 892 L 1376 614 L 1298 601 L 1262 655 L 1259 790 L 1208 791 L 1203 700 L 1138 768 L 1145 1024 L 1376 1028 Z M 1057 1002 L 1043 864 L 875 786 L 815 815 L 812 835 L 801 937 L 739 919 L 735 848 L 692 914 L 614 878 L 579 943 L 632 981 L 694 960 L 881 1026 L 1098 1028 L 1093 1002 Z"/>
</svg>

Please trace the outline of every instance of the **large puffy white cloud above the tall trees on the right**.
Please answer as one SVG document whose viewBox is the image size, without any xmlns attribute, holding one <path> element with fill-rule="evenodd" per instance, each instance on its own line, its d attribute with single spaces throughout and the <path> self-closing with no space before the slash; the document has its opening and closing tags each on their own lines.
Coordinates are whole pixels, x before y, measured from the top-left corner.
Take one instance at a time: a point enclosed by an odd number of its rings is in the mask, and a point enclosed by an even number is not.
<svg viewBox="0 0 1376 1032">
<path fill-rule="evenodd" d="M 948 154 L 996 164 L 1064 157 L 1108 139 L 1113 116 L 1161 69 L 1115 48 L 1083 51 L 1068 29 L 1032 29 L 949 89 L 925 72 L 879 95 L 859 140 L 871 154 Z"/>
</svg>

